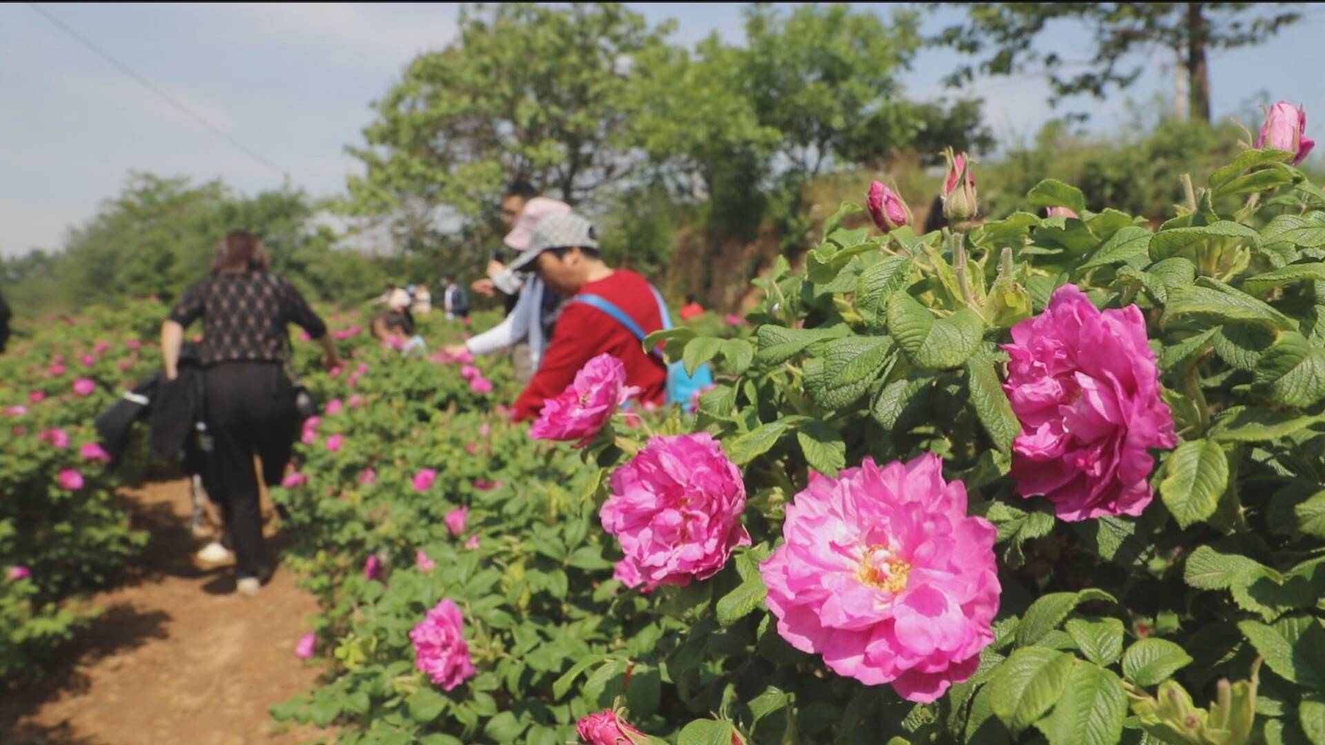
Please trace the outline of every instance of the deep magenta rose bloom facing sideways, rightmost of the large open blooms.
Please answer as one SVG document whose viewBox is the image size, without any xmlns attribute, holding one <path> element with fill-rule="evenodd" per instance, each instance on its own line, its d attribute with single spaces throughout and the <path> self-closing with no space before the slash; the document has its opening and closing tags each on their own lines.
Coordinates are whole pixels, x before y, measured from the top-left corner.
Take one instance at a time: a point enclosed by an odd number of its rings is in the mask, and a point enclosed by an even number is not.
<svg viewBox="0 0 1325 745">
<path fill-rule="evenodd" d="M 1141 310 L 1100 312 L 1064 285 L 1003 349 L 1003 390 L 1022 420 L 1018 493 L 1048 497 L 1063 520 L 1141 514 L 1154 496 L 1150 448 L 1178 444 Z"/>
</svg>

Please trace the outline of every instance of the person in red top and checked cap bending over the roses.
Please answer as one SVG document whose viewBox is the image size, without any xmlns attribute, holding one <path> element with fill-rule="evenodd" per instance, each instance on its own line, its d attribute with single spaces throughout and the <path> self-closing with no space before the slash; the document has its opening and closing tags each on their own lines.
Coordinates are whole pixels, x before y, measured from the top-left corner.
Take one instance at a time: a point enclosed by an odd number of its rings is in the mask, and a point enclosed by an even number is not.
<svg viewBox="0 0 1325 745">
<path fill-rule="evenodd" d="M 575 296 L 594 294 L 621 309 L 647 334 L 662 327 L 648 280 L 629 269 L 612 269 L 599 258 L 592 223 L 574 212 L 543 217 L 534 228 L 529 249 L 510 268 L 533 269 L 550 289 L 571 298 L 556 319 L 538 374 L 515 399 L 517 420 L 538 416 L 546 399 L 560 395 L 584 363 L 603 353 L 621 361 L 625 384 L 643 390 L 640 400 L 664 402 L 662 361 L 645 353 L 639 337 L 621 322 L 599 308 L 575 301 Z"/>
</svg>

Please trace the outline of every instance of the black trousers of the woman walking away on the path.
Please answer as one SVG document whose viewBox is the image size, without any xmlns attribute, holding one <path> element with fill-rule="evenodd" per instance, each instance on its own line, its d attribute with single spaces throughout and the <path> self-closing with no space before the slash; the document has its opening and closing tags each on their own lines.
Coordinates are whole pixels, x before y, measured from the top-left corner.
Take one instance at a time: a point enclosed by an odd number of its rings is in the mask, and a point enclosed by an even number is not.
<svg viewBox="0 0 1325 745">
<path fill-rule="evenodd" d="M 213 449 L 203 483 L 225 517 L 236 574 L 256 577 L 268 563 L 253 456 L 266 485 L 280 484 L 298 428 L 294 386 L 276 362 L 221 362 L 207 369 L 205 415 Z"/>
</svg>

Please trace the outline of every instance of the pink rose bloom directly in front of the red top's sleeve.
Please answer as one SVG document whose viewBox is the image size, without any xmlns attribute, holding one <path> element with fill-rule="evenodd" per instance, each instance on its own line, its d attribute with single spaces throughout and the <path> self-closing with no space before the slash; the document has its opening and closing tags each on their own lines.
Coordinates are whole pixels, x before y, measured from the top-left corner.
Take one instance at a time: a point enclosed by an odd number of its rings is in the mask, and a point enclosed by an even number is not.
<svg viewBox="0 0 1325 745">
<path fill-rule="evenodd" d="M 547 399 L 543 411 L 529 428 L 535 440 L 579 440 L 587 445 L 612 418 L 612 412 L 637 395 L 640 388 L 625 384 L 625 366 L 611 354 L 600 354 L 584 363 L 575 382 L 562 395 Z"/>
</svg>

